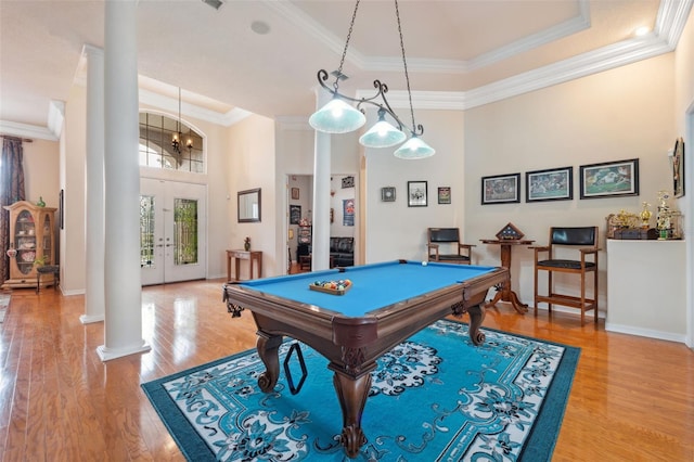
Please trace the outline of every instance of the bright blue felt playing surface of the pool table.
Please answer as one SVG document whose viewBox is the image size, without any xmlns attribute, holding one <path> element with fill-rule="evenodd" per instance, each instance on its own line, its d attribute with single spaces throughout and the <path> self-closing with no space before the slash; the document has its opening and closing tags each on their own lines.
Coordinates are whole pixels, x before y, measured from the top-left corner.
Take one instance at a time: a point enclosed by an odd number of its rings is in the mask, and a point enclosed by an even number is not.
<svg viewBox="0 0 694 462">
<path fill-rule="evenodd" d="M 344 272 L 339 272 L 339 269 L 313 271 L 246 281 L 239 285 L 264 294 L 313 305 L 345 317 L 358 318 L 412 297 L 453 284 L 462 284 L 496 269 L 496 267 L 436 262 L 427 262 L 424 266 L 421 261 L 396 260 L 347 267 L 344 268 Z M 309 285 L 316 281 L 340 279 L 349 279 L 352 283 L 344 295 L 326 294 L 309 288 Z"/>
</svg>

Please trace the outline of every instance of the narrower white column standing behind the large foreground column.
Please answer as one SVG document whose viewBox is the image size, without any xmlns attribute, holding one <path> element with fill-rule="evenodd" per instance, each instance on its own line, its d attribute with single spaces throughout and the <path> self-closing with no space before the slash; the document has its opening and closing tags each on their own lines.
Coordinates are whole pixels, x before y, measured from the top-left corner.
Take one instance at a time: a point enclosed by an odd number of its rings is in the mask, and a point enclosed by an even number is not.
<svg viewBox="0 0 694 462">
<path fill-rule="evenodd" d="M 86 44 L 87 158 L 85 166 L 85 255 L 87 286 L 82 324 L 104 320 L 104 52 Z"/>
</svg>

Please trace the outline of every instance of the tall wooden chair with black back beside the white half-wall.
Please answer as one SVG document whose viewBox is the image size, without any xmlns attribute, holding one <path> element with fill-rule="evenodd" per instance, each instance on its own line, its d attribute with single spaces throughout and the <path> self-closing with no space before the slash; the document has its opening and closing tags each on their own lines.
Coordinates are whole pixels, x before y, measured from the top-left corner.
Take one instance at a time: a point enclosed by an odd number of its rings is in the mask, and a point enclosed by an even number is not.
<svg viewBox="0 0 694 462">
<path fill-rule="evenodd" d="M 545 246 L 532 246 L 535 249 L 535 316 L 538 304 L 547 303 L 550 313 L 552 305 L 563 305 L 581 310 L 581 325 L 586 323 L 586 311 L 593 310 L 597 323 L 597 227 L 550 228 L 550 243 Z M 573 259 L 558 258 L 576 255 Z M 540 271 L 548 273 L 548 294 L 538 293 Z M 554 272 L 578 274 L 580 277 L 580 297 L 556 293 L 552 274 Z M 593 292 L 588 296 L 586 282 L 592 274 Z"/>
</svg>

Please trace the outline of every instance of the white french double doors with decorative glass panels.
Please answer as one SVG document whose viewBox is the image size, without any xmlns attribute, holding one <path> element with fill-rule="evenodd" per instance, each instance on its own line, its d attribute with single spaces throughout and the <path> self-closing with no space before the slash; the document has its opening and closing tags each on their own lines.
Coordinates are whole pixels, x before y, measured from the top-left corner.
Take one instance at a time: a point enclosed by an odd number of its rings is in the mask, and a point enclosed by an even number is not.
<svg viewBox="0 0 694 462">
<path fill-rule="evenodd" d="M 142 285 L 206 277 L 206 187 L 140 180 Z"/>
</svg>

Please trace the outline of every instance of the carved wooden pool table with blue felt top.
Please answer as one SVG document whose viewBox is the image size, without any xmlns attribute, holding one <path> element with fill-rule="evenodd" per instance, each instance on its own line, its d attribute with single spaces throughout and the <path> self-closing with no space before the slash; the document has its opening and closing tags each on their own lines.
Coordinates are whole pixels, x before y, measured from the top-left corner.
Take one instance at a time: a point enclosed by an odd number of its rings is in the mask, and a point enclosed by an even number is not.
<svg viewBox="0 0 694 462">
<path fill-rule="evenodd" d="M 316 281 L 350 280 L 343 295 L 309 288 Z M 505 268 L 396 260 L 336 268 L 223 286 L 232 317 L 252 311 L 258 355 L 266 372 L 260 389 L 274 388 L 283 336 L 311 346 L 330 361 L 343 411 L 340 441 L 350 458 L 367 442 L 361 415 L 376 359 L 448 315 L 470 315 L 470 336 L 485 342 L 479 326 L 490 287 L 505 283 Z"/>
</svg>

